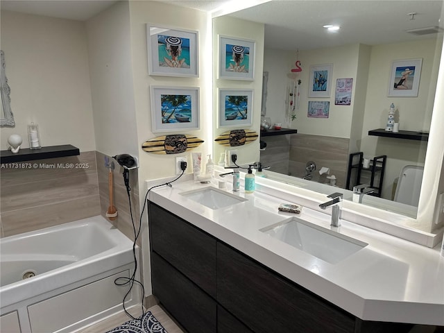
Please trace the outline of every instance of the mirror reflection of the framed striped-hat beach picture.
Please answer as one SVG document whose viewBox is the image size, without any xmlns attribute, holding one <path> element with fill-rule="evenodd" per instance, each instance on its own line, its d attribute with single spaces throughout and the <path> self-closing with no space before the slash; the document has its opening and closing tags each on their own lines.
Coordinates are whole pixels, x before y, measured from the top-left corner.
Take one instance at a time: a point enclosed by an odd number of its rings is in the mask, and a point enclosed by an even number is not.
<svg viewBox="0 0 444 333">
<path fill-rule="evenodd" d="M 219 78 L 253 80 L 255 42 L 219 36 Z"/>
</svg>

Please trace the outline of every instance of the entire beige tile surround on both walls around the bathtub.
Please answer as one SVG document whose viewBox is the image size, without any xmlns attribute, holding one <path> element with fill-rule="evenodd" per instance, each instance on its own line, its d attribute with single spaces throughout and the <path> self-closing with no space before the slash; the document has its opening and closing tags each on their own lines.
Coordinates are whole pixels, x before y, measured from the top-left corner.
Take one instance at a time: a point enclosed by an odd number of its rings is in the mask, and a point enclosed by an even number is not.
<svg viewBox="0 0 444 333">
<path fill-rule="evenodd" d="M 110 199 L 103 153 L 87 151 L 21 164 L 20 168 L 3 164 L 0 169 L 1 237 L 105 216 Z M 115 161 L 114 165 L 114 206 L 119 214 L 111 222 L 134 239 L 123 169 Z M 139 223 L 137 170 L 130 171 L 130 187 L 133 216 Z"/>
</svg>

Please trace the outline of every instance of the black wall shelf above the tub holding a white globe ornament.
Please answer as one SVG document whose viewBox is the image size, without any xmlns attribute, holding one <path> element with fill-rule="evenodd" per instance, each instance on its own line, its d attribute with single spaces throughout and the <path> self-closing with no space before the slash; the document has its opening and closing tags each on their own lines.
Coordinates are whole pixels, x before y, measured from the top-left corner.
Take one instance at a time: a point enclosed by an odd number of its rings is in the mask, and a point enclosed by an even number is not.
<svg viewBox="0 0 444 333">
<path fill-rule="evenodd" d="M 20 149 L 18 153 L 11 151 L 0 151 L 0 163 L 15 163 L 33 160 L 44 160 L 46 158 L 67 157 L 80 155 L 78 148 L 71 144 L 62 146 L 48 146 L 40 149 Z"/>
</svg>

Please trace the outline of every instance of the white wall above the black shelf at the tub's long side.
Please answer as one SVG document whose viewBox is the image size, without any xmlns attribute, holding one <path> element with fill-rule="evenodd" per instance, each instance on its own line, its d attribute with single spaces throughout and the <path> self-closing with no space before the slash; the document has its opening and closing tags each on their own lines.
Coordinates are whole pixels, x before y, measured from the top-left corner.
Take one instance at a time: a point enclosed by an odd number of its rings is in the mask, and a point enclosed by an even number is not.
<svg viewBox="0 0 444 333">
<path fill-rule="evenodd" d="M 27 125 L 33 121 L 42 146 L 72 144 L 94 151 L 83 22 L 2 10 L 1 49 L 15 117 L 15 128 L 0 130 L 1 149 L 8 148 L 8 137 L 15 133 L 28 148 Z"/>
</svg>

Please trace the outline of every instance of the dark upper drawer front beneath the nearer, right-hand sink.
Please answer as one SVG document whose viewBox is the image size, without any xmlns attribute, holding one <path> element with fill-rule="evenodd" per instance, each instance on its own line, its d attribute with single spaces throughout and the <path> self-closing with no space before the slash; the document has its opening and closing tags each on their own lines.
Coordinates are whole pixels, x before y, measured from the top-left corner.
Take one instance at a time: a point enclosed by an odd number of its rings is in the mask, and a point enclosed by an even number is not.
<svg viewBox="0 0 444 333">
<path fill-rule="evenodd" d="M 259 332 L 354 332 L 355 320 L 309 291 L 217 244 L 217 300 Z"/>
</svg>

